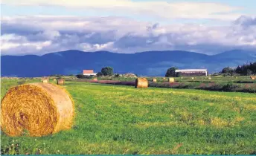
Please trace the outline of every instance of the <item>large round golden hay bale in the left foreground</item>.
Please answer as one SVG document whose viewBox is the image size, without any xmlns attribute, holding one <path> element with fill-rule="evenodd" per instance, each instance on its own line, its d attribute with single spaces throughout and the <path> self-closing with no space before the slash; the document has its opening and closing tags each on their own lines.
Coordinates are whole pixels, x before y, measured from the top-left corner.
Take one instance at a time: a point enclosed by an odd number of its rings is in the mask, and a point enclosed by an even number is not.
<svg viewBox="0 0 256 156">
<path fill-rule="evenodd" d="M 45 136 L 70 129 L 74 103 L 64 88 L 31 83 L 10 88 L 1 101 L 1 131 L 9 136 Z"/>
</svg>

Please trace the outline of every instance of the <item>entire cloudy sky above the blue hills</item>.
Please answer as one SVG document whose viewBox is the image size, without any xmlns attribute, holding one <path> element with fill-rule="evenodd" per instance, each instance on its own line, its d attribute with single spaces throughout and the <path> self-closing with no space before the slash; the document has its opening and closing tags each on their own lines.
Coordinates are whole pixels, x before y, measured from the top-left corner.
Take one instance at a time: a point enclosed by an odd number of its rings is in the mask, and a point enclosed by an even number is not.
<svg viewBox="0 0 256 156">
<path fill-rule="evenodd" d="M 2 0 L 1 54 L 256 51 L 255 0 Z"/>
</svg>

